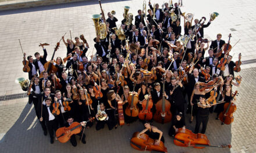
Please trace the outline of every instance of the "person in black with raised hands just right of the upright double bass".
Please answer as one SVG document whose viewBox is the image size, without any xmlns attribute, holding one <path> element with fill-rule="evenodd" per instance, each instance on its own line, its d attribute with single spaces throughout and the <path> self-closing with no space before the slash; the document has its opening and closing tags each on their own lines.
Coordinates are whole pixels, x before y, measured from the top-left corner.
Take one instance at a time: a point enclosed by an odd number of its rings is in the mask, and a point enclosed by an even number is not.
<svg viewBox="0 0 256 153">
<path fill-rule="evenodd" d="M 184 104 L 185 104 L 185 99 L 183 97 L 183 90 L 184 86 L 182 85 L 182 82 L 176 81 L 176 78 L 172 77 L 170 79 L 171 84 L 169 85 L 170 91 L 169 93 L 169 101 L 172 104 L 172 107 L 170 108 L 172 111 L 172 114 L 177 114 L 177 112 L 182 112 L 184 114 Z M 176 85 L 177 88 L 175 88 Z"/>
</svg>

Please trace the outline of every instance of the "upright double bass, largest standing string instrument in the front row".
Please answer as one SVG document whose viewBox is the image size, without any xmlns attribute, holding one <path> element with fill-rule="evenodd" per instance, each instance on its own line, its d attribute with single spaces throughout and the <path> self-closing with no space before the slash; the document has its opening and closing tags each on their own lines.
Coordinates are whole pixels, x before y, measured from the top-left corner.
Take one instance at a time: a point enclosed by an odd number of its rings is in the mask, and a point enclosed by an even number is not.
<svg viewBox="0 0 256 153">
<path fill-rule="evenodd" d="M 165 76 L 163 75 L 163 93 L 165 92 Z M 157 110 L 154 115 L 154 120 L 158 123 L 167 123 L 172 120 L 172 113 L 170 112 L 170 101 L 163 96 L 161 100 L 155 104 Z"/>
</svg>

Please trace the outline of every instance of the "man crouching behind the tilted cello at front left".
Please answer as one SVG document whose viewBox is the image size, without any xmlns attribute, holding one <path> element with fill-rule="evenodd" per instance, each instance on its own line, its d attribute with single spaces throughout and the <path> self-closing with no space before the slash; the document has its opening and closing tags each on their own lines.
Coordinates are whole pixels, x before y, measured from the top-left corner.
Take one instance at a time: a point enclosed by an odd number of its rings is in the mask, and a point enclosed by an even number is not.
<svg viewBox="0 0 256 153">
<path fill-rule="evenodd" d="M 65 123 L 65 127 L 66 128 L 69 128 L 69 126 L 70 125 L 72 125 L 72 123 L 74 122 L 74 118 L 72 118 L 71 116 L 69 116 L 68 118 L 67 118 L 67 122 Z M 84 123 L 84 122 L 81 122 L 80 123 L 83 127 L 85 127 L 86 126 L 86 123 Z M 84 129 L 84 128 L 83 128 Z M 84 132 L 84 130 L 81 130 L 81 132 L 80 133 L 78 133 L 78 134 L 73 134 L 72 136 L 71 136 L 71 138 L 70 138 L 70 143 L 74 146 L 74 147 L 76 147 L 76 145 L 77 145 L 77 142 L 76 142 L 76 135 L 78 135 L 78 136 L 80 136 L 80 140 L 81 140 L 81 142 L 83 143 L 83 144 L 86 144 L 86 133 L 83 133 Z"/>
</svg>

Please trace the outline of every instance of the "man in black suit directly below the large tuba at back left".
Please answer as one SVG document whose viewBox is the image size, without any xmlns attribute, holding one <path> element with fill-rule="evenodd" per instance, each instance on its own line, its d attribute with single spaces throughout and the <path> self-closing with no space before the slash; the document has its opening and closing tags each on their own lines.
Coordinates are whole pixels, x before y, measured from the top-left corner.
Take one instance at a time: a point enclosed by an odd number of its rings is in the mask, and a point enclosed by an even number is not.
<svg viewBox="0 0 256 153">
<path fill-rule="evenodd" d="M 108 62 L 108 58 L 106 55 L 108 54 L 108 49 L 104 45 L 104 42 L 100 42 L 99 38 L 94 38 L 94 47 L 97 50 L 96 54 L 98 54 L 99 57 L 102 57 L 103 61 Z"/>
</svg>

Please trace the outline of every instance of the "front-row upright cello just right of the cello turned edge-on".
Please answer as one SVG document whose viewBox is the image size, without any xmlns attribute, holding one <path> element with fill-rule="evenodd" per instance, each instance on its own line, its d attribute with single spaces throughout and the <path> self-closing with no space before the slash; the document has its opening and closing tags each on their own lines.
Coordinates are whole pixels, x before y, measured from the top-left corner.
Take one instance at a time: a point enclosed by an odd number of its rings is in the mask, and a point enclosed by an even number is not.
<svg viewBox="0 0 256 153">
<path fill-rule="evenodd" d="M 135 86 L 136 86 L 136 84 L 134 83 L 133 92 L 135 90 Z M 129 96 L 127 97 L 129 104 L 126 107 L 125 114 L 127 116 L 137 117 L 138 116 L 138 107 L 137 107 L 138 94 L 133 94 L 133 92 L 130 92 Z"/>
</svg>

